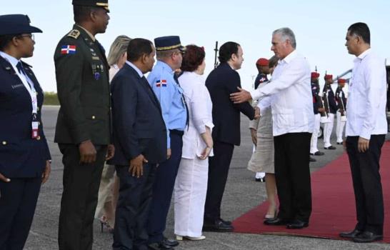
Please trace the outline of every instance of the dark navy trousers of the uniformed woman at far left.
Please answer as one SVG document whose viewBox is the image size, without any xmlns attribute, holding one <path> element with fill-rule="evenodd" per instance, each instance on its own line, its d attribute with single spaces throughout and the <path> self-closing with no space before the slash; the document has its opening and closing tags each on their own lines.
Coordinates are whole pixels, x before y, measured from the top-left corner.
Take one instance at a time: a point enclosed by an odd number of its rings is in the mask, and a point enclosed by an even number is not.
<svg viewBox="0 0 390 250">
<path fill-rule="evenodd" d="M 0 181 L 0 249 L 24 248 L 41 183 L 41 177 Z"/>
</svg>

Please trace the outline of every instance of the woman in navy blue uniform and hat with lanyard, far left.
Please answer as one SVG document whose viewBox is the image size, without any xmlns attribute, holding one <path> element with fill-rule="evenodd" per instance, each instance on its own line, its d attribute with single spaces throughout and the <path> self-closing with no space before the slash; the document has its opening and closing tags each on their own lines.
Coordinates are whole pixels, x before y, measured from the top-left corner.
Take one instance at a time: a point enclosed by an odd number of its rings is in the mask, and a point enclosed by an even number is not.
<svg viewBox="0 0 390 250">
<path fill-rule="evenodd" d="M 42 124 L 44 94 L 31 66 L 30 26 L 21 14 L 0 16 L 0 249 L 23 249 L 41 184 L 50 174 Z"/>
</svg>

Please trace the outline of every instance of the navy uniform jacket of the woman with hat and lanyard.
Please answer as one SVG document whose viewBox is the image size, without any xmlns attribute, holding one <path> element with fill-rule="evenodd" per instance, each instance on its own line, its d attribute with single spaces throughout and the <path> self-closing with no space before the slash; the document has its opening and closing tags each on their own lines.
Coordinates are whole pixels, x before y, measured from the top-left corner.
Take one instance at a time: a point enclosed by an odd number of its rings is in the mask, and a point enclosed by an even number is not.
<svg viewBox="0 0 390 250">
<path fill-rule="evenodd" d="M 38 94 L 37 139 L 31 139 L 31 96 L 11 64 L 0 56 L 0 173 L 10 179 L 39 177 L 51 159 L 41 122 L 44 94 L 31 66 L 23 63 L 23 67 Z"/>
</svg>

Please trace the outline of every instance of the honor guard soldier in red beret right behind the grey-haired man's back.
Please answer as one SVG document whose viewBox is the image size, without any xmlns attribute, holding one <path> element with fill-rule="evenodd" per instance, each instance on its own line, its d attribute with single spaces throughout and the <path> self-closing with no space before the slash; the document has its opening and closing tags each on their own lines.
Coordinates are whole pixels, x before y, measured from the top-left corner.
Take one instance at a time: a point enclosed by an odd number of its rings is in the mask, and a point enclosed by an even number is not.
<svg viewBox="0 0 390 250">
<path fill-rule="evenodd" d="M 321 96 L 319 96 L 319 73 L 311 72 L 311 94 L 313 95 L 313 109 L 314 109 L 314 129 L 311 134 L 310 155 L 322 156 L 324 152 L 319 151 L 317 147 L 318 134 L 320 129 L 321 112 L 324 112 Z M 313 161 L 313 160 L 311 160 Z M 314 159 L 316 161 L 316 159 Z"/>
</svg>

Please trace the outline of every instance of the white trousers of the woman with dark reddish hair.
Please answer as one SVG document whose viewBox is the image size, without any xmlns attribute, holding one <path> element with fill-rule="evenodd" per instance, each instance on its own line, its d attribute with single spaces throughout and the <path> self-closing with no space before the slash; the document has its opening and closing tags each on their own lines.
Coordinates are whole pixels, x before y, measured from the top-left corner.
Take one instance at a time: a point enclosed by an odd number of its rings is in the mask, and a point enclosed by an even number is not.
<svg viewBox="0 0 390 250">
<path fill-rule="evenodd" d="M 174 188 L 175 234 L 201 236 L 209 159 L 181 158 Z"/>
</svg>

